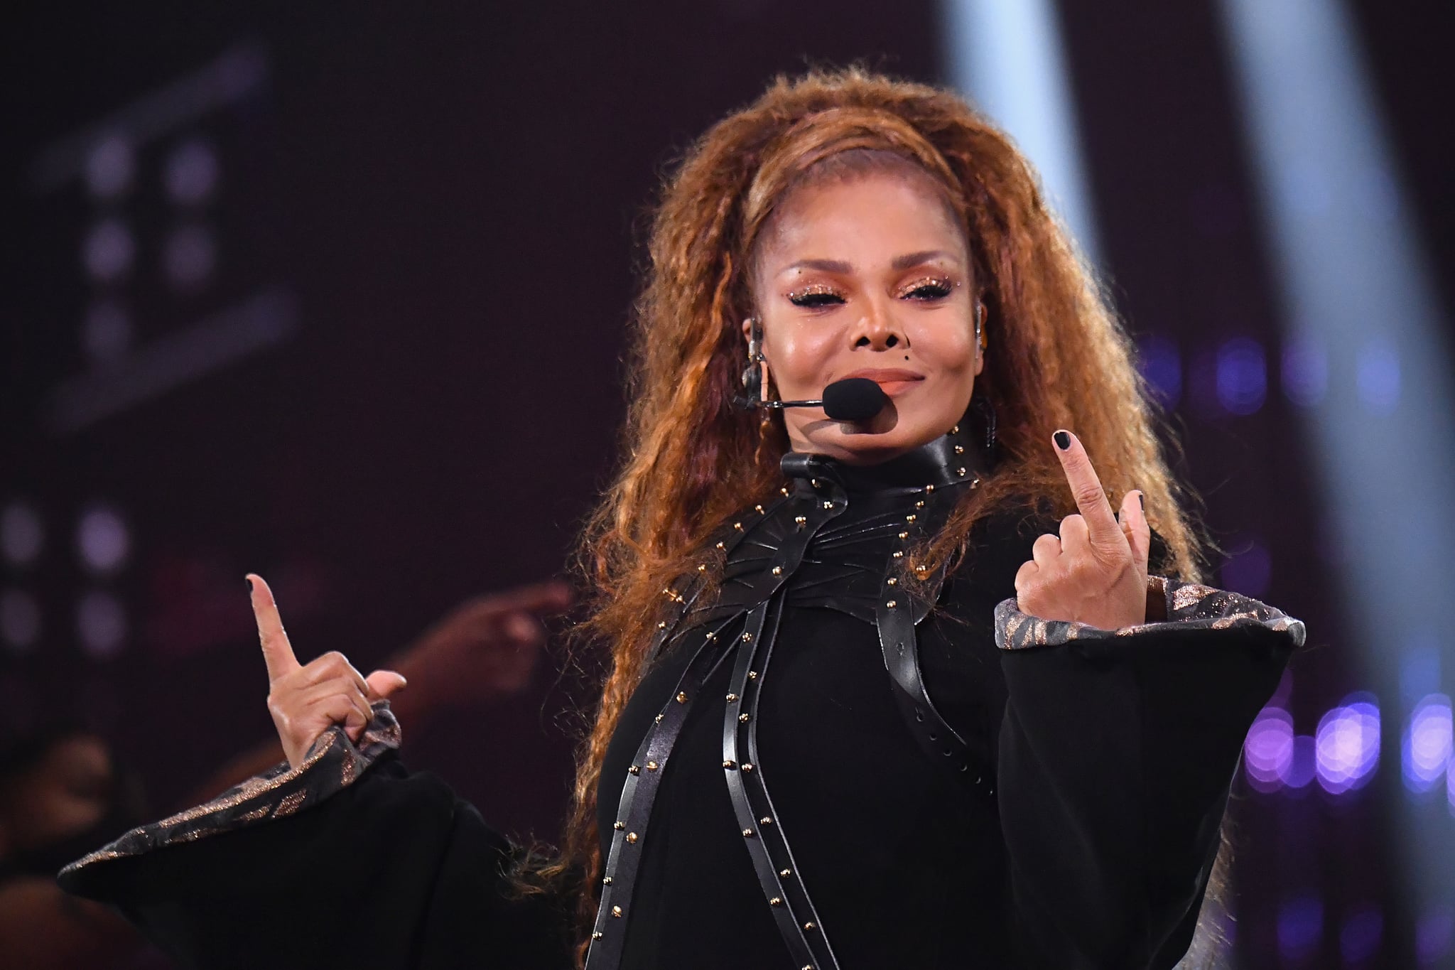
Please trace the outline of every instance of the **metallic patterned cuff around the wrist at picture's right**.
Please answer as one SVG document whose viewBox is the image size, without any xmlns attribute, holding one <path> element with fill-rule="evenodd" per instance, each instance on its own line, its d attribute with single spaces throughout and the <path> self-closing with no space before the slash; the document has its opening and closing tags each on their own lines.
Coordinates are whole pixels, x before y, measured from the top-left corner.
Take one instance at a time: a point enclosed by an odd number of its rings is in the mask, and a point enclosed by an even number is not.
<svg viewBox="0 0 1455 970">
<path fill-rule="evenodd" d="M 1282 609 L 1257 599 L 1200 583 L 1181 583 L 1164 576 L 1149 576 L 1148 585 L 1152 586 L 1152 583 L 1163 586 L 1167 620 L 1103 630 L 1084 622 L 1042 620 L 1023 614 L 1016 605 L 1016 598 L 1011 596 L 995 606 L 995 643 L 1001 650 L 1023 650 L 1026 647 L 1053 647 L 1071 640 L 1138 637 L 1173 628 L 1184 631 L 1260 625 L 1286 633 L 1293 647 L 1304 644 L 1307 631 L 1302 620 L 1295 620 Z"/>
</svg>

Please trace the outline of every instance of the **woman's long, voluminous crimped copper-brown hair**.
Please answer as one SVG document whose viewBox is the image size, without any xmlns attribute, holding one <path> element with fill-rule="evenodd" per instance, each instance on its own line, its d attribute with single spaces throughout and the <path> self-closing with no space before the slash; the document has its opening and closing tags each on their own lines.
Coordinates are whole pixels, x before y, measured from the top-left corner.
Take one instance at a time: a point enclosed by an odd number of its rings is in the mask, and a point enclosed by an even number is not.
<svg viewBox="0 0 1455 970">
<path fill-rule="evenodd" d="M 1183 509 L 1192 499 L 1163 460 L 1160 417 L 1133 366 L 1132 342 L 1011 141 L 936 87 L 861 68 L 778 77 L 687 151 L 652 224 L 633 318 L 624 458 L 579 545 L 594 596 L 585 633 L 610 647 L 610 666 L 551 874 L 579 880 L 586 923 L 601 878 L 601 762 L 645 673 L 663 590 L 695 573 L 723 519 L 783 484 L 781 417 L 733 404 L 746 366 L 741 324 L 752 316 L 755 243 L 805 173 L 856 150 L 906 160 L 943 188 L 963 221 L 988 310 L 989 348 L 976 387 L 995 409 L 1001 460 L 920 550 L 918 563 L 953 566 L 975 522 L 1010 503 L 1074 512 L 1046 444 L 1055 429 L 1069 428 L 1113 494 L 1142 490 L 1147 516 L 1170 550 L 1165 572 L 1199 577 L 1202 553 Z"/>
</svg>

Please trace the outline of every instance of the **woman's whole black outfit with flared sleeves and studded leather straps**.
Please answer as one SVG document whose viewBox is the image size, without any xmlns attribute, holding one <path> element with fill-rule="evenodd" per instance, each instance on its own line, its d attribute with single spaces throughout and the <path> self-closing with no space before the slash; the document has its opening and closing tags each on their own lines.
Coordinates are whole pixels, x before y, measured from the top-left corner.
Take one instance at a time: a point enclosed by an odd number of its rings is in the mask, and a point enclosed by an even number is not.
<svg viewBox="0 0 1455 970">
<path fill-rule="evenodd" d="M 1043 515 L 988 516 L 953 576 L 917 576 L 979 467 L 957 433 L 874 468 L 789 455 L 793 487 L 704 553 L 716 589 L 663 590 L 601 772 L 589 970 L 1177 963 L 1304 627 L 1161 576 L 1144 625 L 1027 617 Z M 569 900 L 505 891 L 512 848 L 375 714 L 63 886 L 185 966 L 569 967 Z"/>
</svg>

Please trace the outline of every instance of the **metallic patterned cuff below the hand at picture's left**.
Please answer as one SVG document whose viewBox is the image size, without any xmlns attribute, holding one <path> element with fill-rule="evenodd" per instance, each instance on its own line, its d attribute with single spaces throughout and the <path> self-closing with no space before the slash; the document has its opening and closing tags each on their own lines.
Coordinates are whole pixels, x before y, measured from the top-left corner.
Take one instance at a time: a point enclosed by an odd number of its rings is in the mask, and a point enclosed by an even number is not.
<svg viewBox="0 0 1455 970">
<path fill-rule="evenodd" d="M 352 785 L 384 753 L 399 747 L 400 730 L 388 701 L 375 701 L 374 718 L 359 734 L 358 745 L 339 726 L 313 742 L 297 768 L 281 762 L 253 775 L 218 797 L 175 816 L 127 832 L 115 842 L 76 859 L 64 870 L 77 870 L 109 859 L 128 858 L 167 845 L 196 842 L 244 826 L 282 819 L 319 804 Z"/>
</svg>

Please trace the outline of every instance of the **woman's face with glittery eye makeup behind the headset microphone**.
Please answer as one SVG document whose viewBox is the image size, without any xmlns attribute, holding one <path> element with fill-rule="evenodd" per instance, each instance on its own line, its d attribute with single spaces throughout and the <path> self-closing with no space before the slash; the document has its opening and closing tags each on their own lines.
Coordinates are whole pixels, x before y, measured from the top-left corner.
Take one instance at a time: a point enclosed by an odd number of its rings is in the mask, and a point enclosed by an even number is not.
<svg viewBox="0 0 1455 970">
<path fill-rule="evenodd" d="M 765 233 L 754 300 L 781 398 L 822 397 L 845 377 L 867 377 L 889 396 L 861 423 L 784 409 L 793 449 L 874 464 L 950 430 L 984 362 L 965 236 L 930 176 L 810 183 L 783 201 Z"/>
</svg>

